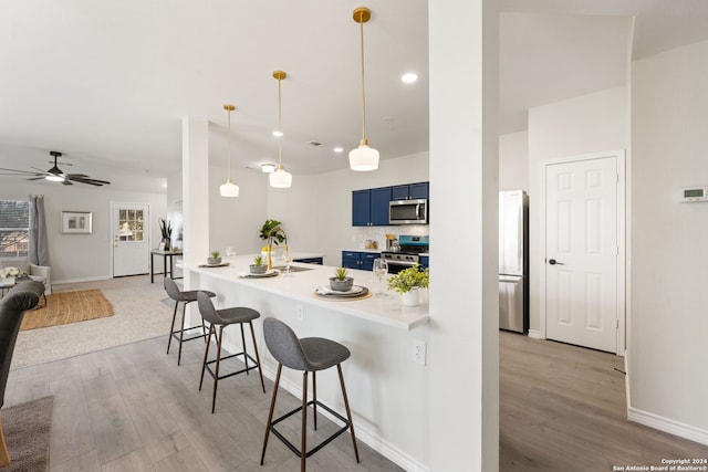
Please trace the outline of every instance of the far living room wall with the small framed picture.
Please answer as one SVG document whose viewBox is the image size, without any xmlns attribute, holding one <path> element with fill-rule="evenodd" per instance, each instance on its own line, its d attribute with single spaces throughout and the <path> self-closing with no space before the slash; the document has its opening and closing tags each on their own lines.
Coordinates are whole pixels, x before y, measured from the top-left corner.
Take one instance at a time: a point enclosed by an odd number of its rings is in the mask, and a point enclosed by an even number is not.
<svg viewBox="0 0 708 472">
<path fill-rule="evenodd" d="M 157 248 L 160 232 L 157 219 L 166 214 L 166 198 L 160 193 L 135 193 L 74 186 L 3 182 L 2 199 L 27 200 L 29 195 L 44 196 L 52 283 L 111 279 L 111 202 L 139 202 L 150 204 L 150 248 Z M 91 211 L 92 234 L 62 234 L 62 211 Z M 157 261 L 156 261 L 157 262 Z"/>
</svg>

